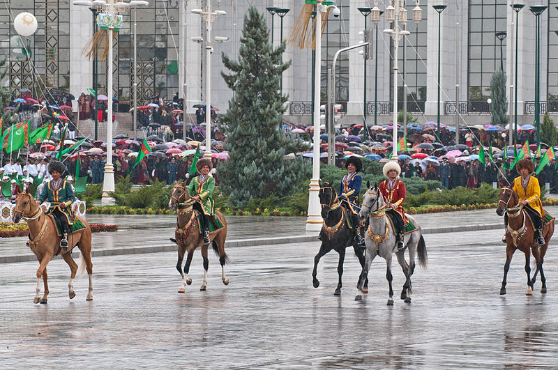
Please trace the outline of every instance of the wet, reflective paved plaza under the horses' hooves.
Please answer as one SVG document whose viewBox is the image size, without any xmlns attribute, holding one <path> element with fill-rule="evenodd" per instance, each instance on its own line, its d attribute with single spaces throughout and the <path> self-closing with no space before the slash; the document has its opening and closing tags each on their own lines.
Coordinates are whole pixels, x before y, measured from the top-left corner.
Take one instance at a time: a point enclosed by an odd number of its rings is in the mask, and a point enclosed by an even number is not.
<svg viewBox="0 0 558 370">
<path fill-rule="evenodd" d="M 112 223 L 107 216 L 88 219 Z M 301 218 L 230 217 L 230 240 L 277 241 L 229 247 L 228 286 L 221 283 L 211 252 L 205 292 L 199 291 L 199 252 L 186 294 L 177 293 L 176 252 L 98 256 L 93 302 L 85 300 L 86 278 L 75 282 L 77 295 L 68 299 L 69 269 L 56 259 L 48 267 L 47 305 L 33 305 L 36 261 L 0 263 L 0 363 L 6 368 L 556 367 L 558 258 L 552 245 L 545 259 L 548 293 L 539 293 L 537 282 L 534 295 L 525 295 L 525 259 L 519 253 L 508 274 L 508 294 L 501 296 L 502 229 L 435 232 L 462 223 L 502 222 L 494 210 L 418 219 L 432 231 L 425 234 L 428 270 L 415 270 L 412 303 L 397 299 L 393 307 L 386 306 L 383 259 L 372 264 L 370 293 L 361 302 L 354 301 L 360 266 L 352 252 L 345 259 L 342 295 L 333 295 L 335 252 L 322 259 L 321 285 L 312 288 L 319 242 L 280 243 L 287 235 L 306 233 Z M 93 249 L 126 242 L 164 245 L 173 222 L 126 217 L 118 233 L 96 234 Z M 13 239 L 2 240 L 3 255 L 6 244 L 24 241 Z M 403 274 L 394 263 L 398 298 Z"/>
</svg>

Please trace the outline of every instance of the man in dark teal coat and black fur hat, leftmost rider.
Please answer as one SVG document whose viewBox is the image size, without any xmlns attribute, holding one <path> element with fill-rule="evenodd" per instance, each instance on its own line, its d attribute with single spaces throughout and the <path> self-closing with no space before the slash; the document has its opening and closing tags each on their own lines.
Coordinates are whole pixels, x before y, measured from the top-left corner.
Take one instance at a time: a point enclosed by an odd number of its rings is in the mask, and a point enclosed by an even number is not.
<svg viewBox="0 0 558 370">
<path fill-rule="evenodd" d="M 47 182 L 43 187 L 43 192 L 38 197 L 38 202 L 50 202 L 50 208 L 47 213 L 52 214 L 59 220 L 63 235 L 60 246 L 66 250 L 68 248 L 68 235 L 72 232 L 71 226 L 74 224 L 75 215 L 71 204 L 75 201 L 73 187 L 66 180 L 62 179 L 62 174 L 66 171 L 66 166 L 62 162 L 52 161 L 48 165 L 48 173 L 52 176 L 52 180 Z"/>
</svg>

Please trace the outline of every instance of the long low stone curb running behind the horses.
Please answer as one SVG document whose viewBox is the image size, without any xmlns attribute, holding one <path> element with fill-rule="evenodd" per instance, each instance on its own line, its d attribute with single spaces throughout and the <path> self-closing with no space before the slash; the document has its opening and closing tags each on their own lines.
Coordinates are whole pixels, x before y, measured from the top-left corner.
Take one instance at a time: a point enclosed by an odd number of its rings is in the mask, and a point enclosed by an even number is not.
<svg viewBox="0 0 558 370">
<path fill-rule="evenodd" d="M 428 229 L 423 229 L 423 235 L 426 234 L 437 234 L 437 233 L 457 233 L 465 231 L 478 231 L 478 230 L 495 230 L 504 229 L 504 224 L 476 224 L 467 226 L 448 226 L 448 227 L 432 227 Z M 317 242 L 318 233 L 315 235 L 301 235 L 301 236 L 285 236 L 277 238 L 252 238 L 252 239 L 236 239 L 229 240 L 225 243 L 225 247 L 253 247 L 255 245 L 276 245 L 276 244 L 288 244 L 296 242 Z M 176 252 L 176 245 L 174 244 L 159 244 L 151 245 L 149 247 L 132 247 L 132 248 L 118 248 L 118 249 L 93 249 L 91 251 L 92 257 L 101 256 L 121 256 L 126 254 L 146 254 L 146 253 L 158 253 L 158 252 Z M 72 257 L 74 259 L 79 258 L 80 252 L 73 252 Z M 55 259 L 60 259 L 60 256 L 54 257 Z M 20 254 L 15 256 L 0 256 L 1 263 L 19 263 L 19 262 L 32 262 L 37 261 L 37 257 L 34 254 Z"/>
</svg>

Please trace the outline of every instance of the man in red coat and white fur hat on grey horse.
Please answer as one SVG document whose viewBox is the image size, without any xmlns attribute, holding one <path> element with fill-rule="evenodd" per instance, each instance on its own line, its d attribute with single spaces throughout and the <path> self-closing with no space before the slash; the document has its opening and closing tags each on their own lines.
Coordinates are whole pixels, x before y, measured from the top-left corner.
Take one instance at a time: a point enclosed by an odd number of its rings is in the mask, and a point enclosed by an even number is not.
<svg viewBox="0 0 558 370">
<path fill-rule="evenodd" d="M 387 162 L 384 164 L 383 170 L 387 180 L 379 184 L 379 191 L 384 196 L 386 206 L 388 207 L 387 215 L 391 218 L 397 233 L 397 247 L 398 249 L 403 249 L 405 247 L 403 245 L 403 229 L 405 229 L 405 224 L 407 223 L 403 202 L 405 201 L 407 190 L 405 189 L 405 184 L 398 179 L 398 176 L 401 174 L 401 167 L 399 167 L 397 162 Z"/>
</svg>

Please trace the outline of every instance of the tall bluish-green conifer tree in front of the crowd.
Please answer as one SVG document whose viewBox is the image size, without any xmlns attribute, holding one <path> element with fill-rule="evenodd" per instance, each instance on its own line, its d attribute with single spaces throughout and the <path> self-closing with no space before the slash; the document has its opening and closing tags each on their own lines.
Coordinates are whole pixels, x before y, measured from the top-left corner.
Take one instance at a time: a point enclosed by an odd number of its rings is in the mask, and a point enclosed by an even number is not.
<svg viewBox="0 0 558 370">
<path fill-rule="evenodd" d="M 230 74 L 221 75 L 234 95 L 224 118 L 229 160 L 219 167 L 219 179 L 234 207 L 243 208 L 250 200 L 271 194 L 292 194 L 311 171 L 302 160 L 283 158 L 302 145 L 285 137 L 280 128 L 287 101 L 287 95 L 279 91 L 280 76 L 290 65 L 290 61 L 281 62 L 283 52 L 285 43 L 273 49 L 264 16 L 250 6 L 244 17 L 239 60 L 232 61 L 223 53 Z"/>
</svg>

